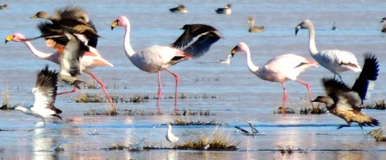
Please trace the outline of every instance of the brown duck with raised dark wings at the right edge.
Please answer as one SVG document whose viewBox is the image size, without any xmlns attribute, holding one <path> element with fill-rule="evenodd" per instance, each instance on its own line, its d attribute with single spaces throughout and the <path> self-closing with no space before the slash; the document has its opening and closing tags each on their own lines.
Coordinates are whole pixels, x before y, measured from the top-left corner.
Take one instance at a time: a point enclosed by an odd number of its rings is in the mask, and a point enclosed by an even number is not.
<svg viewBox="0 0 386 160">
<path fill-rule="evenodd" d="M 313 102 L 326 103 L 326 108 L 333 115 L 345 119 L 347 124 L 338 127 L 348 127 L 352 122 L 362 126 L 378 126 L 377 119 L 369 117 L 361 111 L 366 95 L 374 87 L 374 81 L 378 78 L 378 61 L 372 54 L 365 54 L 364 68 L 354 85 L 350 89 L 343 82 L 333 79 L 322 80 L 327 96 L 318 96 Z"/>
</svg>

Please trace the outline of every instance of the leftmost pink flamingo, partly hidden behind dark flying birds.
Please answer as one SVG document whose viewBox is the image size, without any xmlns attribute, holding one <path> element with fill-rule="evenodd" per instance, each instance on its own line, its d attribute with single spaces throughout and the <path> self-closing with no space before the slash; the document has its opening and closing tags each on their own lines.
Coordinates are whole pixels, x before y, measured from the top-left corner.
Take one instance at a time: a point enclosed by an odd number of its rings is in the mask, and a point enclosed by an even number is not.
<svg viewBox="0 0 386 160">
<path fill-rule="evenodd" d="M 59 61 L 60 52 L 62 52 L 62 50 L 64 49 L 64 46 L 55 44 L 55 42 L 53 42 L 51 39 L 48 39 L 46 41 L 46 44 L 50 47 L 54 47 L 56 45 L 55 49 L 57 49 L 58 51 L 53 52 L 53 53 L 44 53 L 44 52 L 41 52 L 39 50 L 36 50 L 36 48 L 34 48 L 32 43 L 29 41 L 24 41 L 25 39 L 26 39 L 25 36 L 23 36 L 22 34 L 15 33 L 13 35 L 6 37 L 6 43 L 8 41 L 25 43 L 25 45 L 27 45 L 29 50 L 31 50 L 32 54 L 34 54 L 36 57 L 39 57 L 40 59 L 52 61 L 53 63 L 60 65 L 60 61 Z M 94 75 L 91 72 L 92 68 L 94 68 L 95 66 L 114 66 L 114 65 L 109 63 L 109 61 L 103 59 L 100 56 L 100 54 L 98 53 L 98 50 L 96 50 L 95 48 L 92 48 L 92 47 L 89 47 L 89 48 L 91 48 L 91 52 L 85 52 L 84 56 L 80 60 L 81 71 L 83 71 L 84 73 L 87 73 L 88 75 L 91 75 L 91 77 L 93 77 L 100 84 L 100 86 L 103 89 L 103 92 L 105 92 L 107 99 L 109 99 L 109 102 L 111 103 L 112 108 L 114 109 L 114 112 L 115 112 L 116 109 L 115 109 L 114 102 L 112 101 L 109 94 L 107 93 L 106 86 L 102 83 L 102 81 L 96 75 Z M 60 92 L 60 93 L 58 93 L 58 95 L 76 92 L 76 90 L 77 90 L 77 88 L 74 87 L 74 89 L 72 89 L 72 91 Z"/>
</svg>

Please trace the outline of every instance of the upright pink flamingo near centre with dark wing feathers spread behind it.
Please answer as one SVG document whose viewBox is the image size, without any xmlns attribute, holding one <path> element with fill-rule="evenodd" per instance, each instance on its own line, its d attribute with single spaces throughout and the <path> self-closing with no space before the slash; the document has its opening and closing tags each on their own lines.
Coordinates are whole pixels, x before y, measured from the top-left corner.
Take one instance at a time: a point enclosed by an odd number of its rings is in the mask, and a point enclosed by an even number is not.
<svg viewBox="0 0 386 160">
<path fill-rule="evenodd" d="M 178 75 L 168 69 L 169 66 L 178 64 L 180 61 L 200 57 L 209 50 L 211 45 L 222 38 L 222 34 L 211 26 L 205 24 L 185 24 L 182 29 L 185 32 L 178 38 L 175 43 L 168 46 L 152 45 L 148 48 L 135 52 L 130 44 L 130 22 L 127 17 L 121 15 L 115 20 L 111 27 L 125 27 L 126 33 L 124 36 L 124 48 L 128 59 L 134 66 L 148 73 L 158 73 L 158 99 L 157 108 L 159 110 L 159 99 L 161 98 L 161 74 L 160 71 L 166 70 L 175 77 L 175 110 L 177 110 L 177 90 L 178 90 Z M 187 46 L 183 51 L 176 48 L 182 48 L 198 37 L 197 41 Z"/>
</svg>

